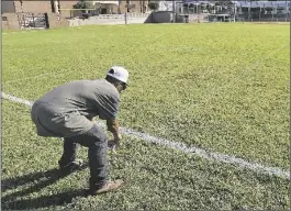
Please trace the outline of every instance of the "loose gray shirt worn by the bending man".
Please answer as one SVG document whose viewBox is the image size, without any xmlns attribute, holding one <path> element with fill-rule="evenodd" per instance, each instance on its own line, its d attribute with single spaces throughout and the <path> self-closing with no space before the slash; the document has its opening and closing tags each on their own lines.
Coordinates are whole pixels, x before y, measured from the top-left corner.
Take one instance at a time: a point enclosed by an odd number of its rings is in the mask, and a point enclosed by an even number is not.
<svg viewBox="0 0 291 211">
<path fill-rule="evenodd" d="M 120 93 L 105 79 L 61 85 L 34 102 L 32 120 L 40 136 L 75 136 L 89 131 L 93 116 L 114 120 Z"/>
</svg>

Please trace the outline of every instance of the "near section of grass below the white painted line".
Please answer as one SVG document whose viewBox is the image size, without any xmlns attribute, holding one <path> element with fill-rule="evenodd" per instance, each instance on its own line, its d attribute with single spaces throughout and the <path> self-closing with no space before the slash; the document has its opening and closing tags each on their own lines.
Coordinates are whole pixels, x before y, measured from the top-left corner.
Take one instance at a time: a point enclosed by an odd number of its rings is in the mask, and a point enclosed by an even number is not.
<svg viewBox="0 0 291 211">
<path fill-rule="evenodd" d="M 2 209 L 277 210 L 290 207 L 289 181 L 126 137 L 111 178 L 126 185 L 85 197 L 89 169 L 58 178 L 61 141 L 35 135 L 29 108 L 3 102 Z M 18 116 L 15 124 L 15 119 Z M 85 148 L 79 157 L 86 158 Z"/>
</svg>

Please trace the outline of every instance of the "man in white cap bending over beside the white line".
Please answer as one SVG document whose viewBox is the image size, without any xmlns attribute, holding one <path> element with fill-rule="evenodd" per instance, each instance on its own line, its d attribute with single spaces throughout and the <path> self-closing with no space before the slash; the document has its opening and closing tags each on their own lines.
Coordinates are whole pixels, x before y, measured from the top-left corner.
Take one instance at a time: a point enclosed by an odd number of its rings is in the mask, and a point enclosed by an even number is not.
<svg viewBox="0 0 291 211">
<path fill-rule="evenodd" d="M 78 80 L 61 85 L 34 102 L 31 118 L 38 136 L 64 137 L 64 153 L 58 162 L 60 170 L 71 171 L 81 165 L 76 159 L 77 144 L 88 147 L 90 166 L 89 193 L 98 195 L 123 185 L 110 181 L 108 175 L 108 137 L 92 122 L 94 116 L 107 120 L 108 130 L 120 144 L 116 120 L 120 93 L 126 89 L 128 71 L 111 67 L 105 79 Z"/>
</svg>

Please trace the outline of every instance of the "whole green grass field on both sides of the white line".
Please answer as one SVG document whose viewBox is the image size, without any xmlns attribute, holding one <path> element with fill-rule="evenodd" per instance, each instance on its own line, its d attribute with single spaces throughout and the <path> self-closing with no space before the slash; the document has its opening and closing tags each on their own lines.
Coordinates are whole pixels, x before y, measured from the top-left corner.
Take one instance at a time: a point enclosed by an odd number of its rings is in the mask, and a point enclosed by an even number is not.
<svg viewBox="0 0 291 211">
<path fill-rule="evenodd" d="M 122 126 L 289 171 L 289 32 L 247 23 L 5 32 L 2 91 L 35 100 L 123 65 Z M 57 177 L 61 146 L 36 136 L 29 107 L 3 100 L 2 209 L 290 210 L 289 179 L 126 135 L 111 164 L 126 185 L 86 198 L 88 168 Z"/>
</svg>

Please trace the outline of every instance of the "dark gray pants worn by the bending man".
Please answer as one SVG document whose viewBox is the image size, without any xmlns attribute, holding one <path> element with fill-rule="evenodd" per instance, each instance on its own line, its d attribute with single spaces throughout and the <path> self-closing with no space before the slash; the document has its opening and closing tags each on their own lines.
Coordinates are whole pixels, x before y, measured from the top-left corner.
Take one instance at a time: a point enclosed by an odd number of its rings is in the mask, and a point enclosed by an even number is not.
<svg viewBox="0 0 291 211">
<path fill-rule="evenodd" d="M 60 166 L 74 162 L 77 157 L 77 144 L 88 147 L 90 166 L 90 186 L 102 186 L 108 179 L 108 137 L 96 124 L 85 134 L 65 137 Z"/>
</svg>

